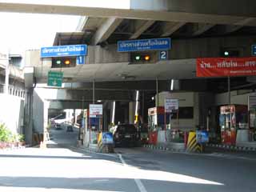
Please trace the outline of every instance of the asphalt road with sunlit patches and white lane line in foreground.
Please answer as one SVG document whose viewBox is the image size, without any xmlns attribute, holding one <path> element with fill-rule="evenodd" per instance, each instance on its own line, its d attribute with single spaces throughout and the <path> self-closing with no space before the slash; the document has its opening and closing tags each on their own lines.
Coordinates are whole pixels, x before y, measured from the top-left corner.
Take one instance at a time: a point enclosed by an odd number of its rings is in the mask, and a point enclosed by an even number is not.
<svg viewBox="0 0 256 192">
<path fill-rule="evenodd" d="M 54 131 L 53 148 L 0 151 L 0 191 L 256 191 L 256 154 L 86 154 L 74 133 Z"/>
</svg>

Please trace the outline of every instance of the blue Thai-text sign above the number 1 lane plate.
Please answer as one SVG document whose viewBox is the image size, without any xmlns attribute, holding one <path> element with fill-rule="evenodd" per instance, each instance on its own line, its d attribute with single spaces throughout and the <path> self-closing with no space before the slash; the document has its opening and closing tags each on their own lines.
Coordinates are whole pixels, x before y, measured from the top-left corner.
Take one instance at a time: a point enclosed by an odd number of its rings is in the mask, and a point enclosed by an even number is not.
<svg viewBox="0 0 256 192">
<path fill-rule="evenodd" d="M 73 45 L 73 46 L 49 46 L 41 48 L 41 58 L 54 58 L 65 56 L 78 56 L 86 55 L 86 45 Z"/>
</svg>

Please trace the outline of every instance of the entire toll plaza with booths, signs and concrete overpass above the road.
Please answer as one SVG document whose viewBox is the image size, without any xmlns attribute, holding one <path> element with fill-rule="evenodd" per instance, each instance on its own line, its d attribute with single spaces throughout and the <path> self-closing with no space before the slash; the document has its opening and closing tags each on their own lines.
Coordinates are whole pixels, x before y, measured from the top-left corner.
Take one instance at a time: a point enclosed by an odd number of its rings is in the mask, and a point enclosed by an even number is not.
<svg viewBox="0 0 256 192">
<path fill-rule="evenodd" d="M 28 105 L 35 106 L 27 113 L 40 114 L 34 130 L 46 130 L 49 111 L 77 109 L 86 122 L 82 129 L 142 123 L 149 144 L 182 146 L 190 131 L 206 130 L 210 143 L 253 147 L 250 3 L 226 9 L 228 2 L 216 1 L 202 9 L 194 1 L 186 6 L 126 1 L 110 7 L 1 2 L 6 11 L 81 15 L 76 31 L 56 33 L 52 45 L 26 51 L 25 86 L 33 98 Z M 178 106 L 174 110 L 166 110 L 170 99 Z M 92 104 L 102 105 L 101 117 L 90 119 Z M 27 134 L 33 135 L 32 124 Z M 84 131 L 79 134 L 78 141 L 86 141 Z"/>
</svg>

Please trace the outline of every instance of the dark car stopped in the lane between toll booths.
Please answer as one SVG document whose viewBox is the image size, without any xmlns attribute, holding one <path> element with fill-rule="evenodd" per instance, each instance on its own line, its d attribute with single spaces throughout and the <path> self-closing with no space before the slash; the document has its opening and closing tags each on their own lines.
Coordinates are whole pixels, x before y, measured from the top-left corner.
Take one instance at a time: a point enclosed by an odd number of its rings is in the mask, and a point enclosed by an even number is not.
<svg viewBox="0 0 256 192">
<path fill-rule="evenodd" d="M 114 126 L 113 136 L 115 146 L 135 146 L 138 141 L 138 131 L 132 124 Z"/>
</svg>

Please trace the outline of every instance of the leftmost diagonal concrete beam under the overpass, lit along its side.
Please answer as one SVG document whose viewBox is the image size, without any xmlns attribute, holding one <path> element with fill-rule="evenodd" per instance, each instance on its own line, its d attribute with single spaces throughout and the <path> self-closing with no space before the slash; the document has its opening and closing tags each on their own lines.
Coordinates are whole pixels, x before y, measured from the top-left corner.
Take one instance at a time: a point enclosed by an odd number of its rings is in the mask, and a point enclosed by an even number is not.
<svg viewBox="0 0 256 192">
<path fill-rule="evenodd" d="M 106 39 L 109 38 L 114 30 L 120 25 L 122 20 L 122 18 L 108 18 L 94 34 L 92 44 L 97 45 L 100 42 L 106 41 Z"/>
</svg>

